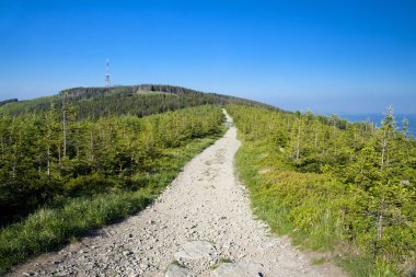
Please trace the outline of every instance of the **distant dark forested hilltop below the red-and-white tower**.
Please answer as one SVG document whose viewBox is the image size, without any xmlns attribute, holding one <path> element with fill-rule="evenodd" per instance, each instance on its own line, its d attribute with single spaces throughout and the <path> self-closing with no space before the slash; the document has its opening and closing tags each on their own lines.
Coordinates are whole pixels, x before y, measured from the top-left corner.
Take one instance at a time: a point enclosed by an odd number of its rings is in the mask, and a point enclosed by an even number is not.
<svg viewBox="0 0 416 277">
<path fill-rule="evenodd" d="M 55 96 L 5 104 L 0 106 L 0 114 L 15 116 L 44 113 L 50 109 L 51 104 L 58 111 L 66 104 L 77 106 L 80 119 L 109 115 L 136 115 L 141 117 L 207 104 L 239 104 L 276 109 L 276 107 L 269 105 L 234 96 L 203 93 L 172 85 L 143 84 L 63 90 Z"/>
</svg>

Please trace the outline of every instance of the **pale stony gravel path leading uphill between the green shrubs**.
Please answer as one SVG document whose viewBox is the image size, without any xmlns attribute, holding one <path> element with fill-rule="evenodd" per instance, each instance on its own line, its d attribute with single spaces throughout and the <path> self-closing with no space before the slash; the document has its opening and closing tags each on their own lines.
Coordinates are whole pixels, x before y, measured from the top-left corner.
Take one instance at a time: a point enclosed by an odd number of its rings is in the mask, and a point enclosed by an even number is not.
<svg viewBox="0 0 416 277">
<path fill-rule="evenodd" d="M 146 210 L 10 276 L 343 276 L 330 264 L 311 266 L 310 254 L 253 217 L 234 176 L 239 147 L 230 127 Z"/>
</svg>

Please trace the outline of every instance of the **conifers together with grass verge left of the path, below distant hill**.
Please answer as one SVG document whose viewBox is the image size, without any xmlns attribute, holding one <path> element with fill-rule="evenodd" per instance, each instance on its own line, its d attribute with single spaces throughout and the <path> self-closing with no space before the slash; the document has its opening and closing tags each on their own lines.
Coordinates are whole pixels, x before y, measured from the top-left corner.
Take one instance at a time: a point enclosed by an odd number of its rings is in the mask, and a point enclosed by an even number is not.
<svg viewBox="0 0 416 277">
<path fill-rule="evenodd" d="M 146 207 L 223 131 L 221 109 L 207 105 L 76 118 L 70 105 L 0 117 L 0 273 Z"/>
</svg>

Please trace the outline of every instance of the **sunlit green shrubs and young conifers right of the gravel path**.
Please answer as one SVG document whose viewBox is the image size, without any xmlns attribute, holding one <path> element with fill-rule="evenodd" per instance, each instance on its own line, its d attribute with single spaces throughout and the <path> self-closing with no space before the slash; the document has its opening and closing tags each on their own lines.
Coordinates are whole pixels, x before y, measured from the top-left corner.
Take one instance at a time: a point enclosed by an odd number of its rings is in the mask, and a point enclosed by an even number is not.
<svg viewBox="0 0 416 277">
<path fill-rule="evenodd" d="M 312 249 L 344 249 L 354 276 L 415 266 L 416 141 L 406 122 L 396 129 L 392 109 L 380 128 L 310 112 L 227 109 L 243 139 L 240 172 L 275 231 Z"/>
</svg>

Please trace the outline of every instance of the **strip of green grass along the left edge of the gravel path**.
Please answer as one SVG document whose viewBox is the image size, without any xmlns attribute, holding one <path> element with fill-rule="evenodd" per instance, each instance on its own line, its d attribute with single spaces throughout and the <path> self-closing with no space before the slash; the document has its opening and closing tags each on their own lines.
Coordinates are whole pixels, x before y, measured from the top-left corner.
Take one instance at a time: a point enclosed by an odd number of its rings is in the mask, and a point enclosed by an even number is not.
<svg viewBox="0 0 416 277">
<path fill-rule="evenodd" d="M 25 220 L 0 230 L 0 275 L 25 259 L 76 241 L 85 232 L 142 210 L 169 185 L 193 157 L 222 132 L 195 139 L 184 147 L 165 150 L 163 166 L 137 192 L 73 198 L 60 208 L 42 208 Z M 169 166 L 167 166 L 169 165 Z"/>
</svg>

